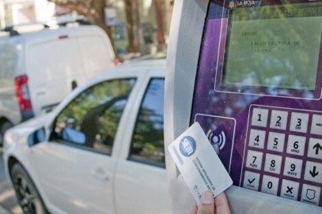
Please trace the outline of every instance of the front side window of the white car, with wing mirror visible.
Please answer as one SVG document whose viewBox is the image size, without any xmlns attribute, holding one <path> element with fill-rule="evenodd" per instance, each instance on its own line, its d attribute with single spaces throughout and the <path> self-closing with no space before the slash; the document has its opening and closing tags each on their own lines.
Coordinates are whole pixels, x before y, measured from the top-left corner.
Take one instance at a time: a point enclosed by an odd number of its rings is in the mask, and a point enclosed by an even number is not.
<svg viewBox="0 0 322 214">
<path fill-rule="evenodd" d="M 135 79 L 115 79 L 88 88 L 55 120 L 53 137 L 111 154 L 114 137 Z"/>
</svg>

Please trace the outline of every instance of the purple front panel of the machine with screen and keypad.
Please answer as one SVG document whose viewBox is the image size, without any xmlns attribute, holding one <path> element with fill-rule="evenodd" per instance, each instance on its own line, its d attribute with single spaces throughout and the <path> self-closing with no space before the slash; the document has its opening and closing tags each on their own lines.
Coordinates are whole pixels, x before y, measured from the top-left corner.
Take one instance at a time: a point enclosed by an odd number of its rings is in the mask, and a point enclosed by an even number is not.
<svg viewBox="0 0 322 214">
<path fill-rule="evenodd" d="M 322 206 L 322 3 L 211 1 L 190 123 L 234 185 Z"/>
</svg>

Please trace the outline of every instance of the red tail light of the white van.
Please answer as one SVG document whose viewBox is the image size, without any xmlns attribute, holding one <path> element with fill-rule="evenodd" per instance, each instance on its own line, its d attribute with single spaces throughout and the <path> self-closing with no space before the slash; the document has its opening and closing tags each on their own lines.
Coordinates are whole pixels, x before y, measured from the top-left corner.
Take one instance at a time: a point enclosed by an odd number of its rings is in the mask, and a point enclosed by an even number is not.
<svg viewBox="0 0 322 214">
<path fill-rule="evenodd" d="M 28 77 L 21 75 L 16 77 L 16 97 L 21 110 L 32 109 L 32 102 L 30 101 L 28 90 Z"/>
</svg>

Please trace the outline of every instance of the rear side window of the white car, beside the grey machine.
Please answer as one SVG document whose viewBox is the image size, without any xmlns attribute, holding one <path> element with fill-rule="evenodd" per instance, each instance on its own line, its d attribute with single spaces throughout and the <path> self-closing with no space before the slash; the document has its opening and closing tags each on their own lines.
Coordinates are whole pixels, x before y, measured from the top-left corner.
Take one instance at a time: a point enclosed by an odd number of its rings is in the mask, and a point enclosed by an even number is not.
<svg viewBox="0 0 322 214">
<path fill-rule="evenodd" d="M 129 160 L 165 168 L 163 100 L 164 79 L 151 79 L 136 119 Z"/>
</svg>

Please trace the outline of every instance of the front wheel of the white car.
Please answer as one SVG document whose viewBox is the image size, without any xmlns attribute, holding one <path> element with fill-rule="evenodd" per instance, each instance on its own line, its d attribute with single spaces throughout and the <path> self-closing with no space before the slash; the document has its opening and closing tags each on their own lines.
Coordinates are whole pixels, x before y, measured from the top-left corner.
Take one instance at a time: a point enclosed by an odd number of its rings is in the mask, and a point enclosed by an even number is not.
<svg viewBox="0 0 322 214">
<path fill-rule="evenodd" d="M 13 165 L 11 170 L 12 183 L 16 197 L 25 214 L 45 214 L 45 205 L 42 202 L 32 179 L 19 163 Z"/>
</svg>

